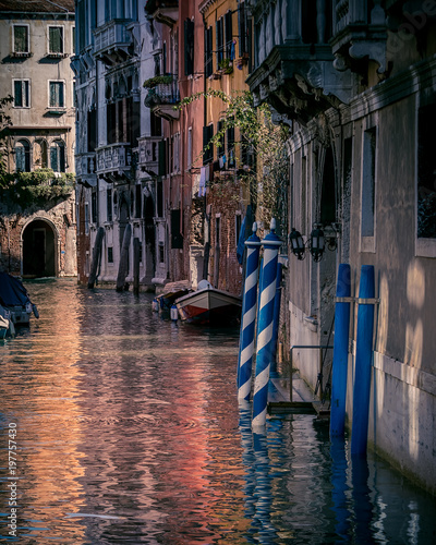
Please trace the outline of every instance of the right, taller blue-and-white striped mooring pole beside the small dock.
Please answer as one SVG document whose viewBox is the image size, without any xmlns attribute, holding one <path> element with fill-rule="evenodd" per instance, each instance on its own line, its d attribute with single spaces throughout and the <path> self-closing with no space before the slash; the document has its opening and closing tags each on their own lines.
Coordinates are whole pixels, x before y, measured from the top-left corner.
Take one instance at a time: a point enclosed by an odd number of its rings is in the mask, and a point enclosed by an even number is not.
<svg viewBox="0 0 436 545">
<path fill-rule="evenodd" d="M 253 396 L 252 427 L 266 424 L 266 407 L 268 402 L 269 366 L 272 348 L 274 304 L 276 299 L 277 264 L 281 240 L 275 233 L 276 220 L 271 219 L 271 231 L 262 241 L 264 261 L 261 275 L 261 302 L 258 310 L 258 336 L 256 355 L 256 377 Z"/>
</svg>

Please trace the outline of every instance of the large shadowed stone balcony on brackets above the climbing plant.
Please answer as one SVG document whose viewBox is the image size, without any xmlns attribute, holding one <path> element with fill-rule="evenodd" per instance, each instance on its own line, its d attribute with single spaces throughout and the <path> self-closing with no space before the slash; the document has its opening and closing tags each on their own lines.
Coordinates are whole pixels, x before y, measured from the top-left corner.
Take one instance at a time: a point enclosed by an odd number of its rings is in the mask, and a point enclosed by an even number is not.
<svg viewBox="0 0 436 545">
<path fill-rule="evenodd" d="M 247 78 L 255 100 L 306 123 L 312 116 L 351 99 L 353 76 L 334 68 L 329 2 L 312 13 L 303 0 L 254 0 L 255 70 Z M 311 4 L 312 5 L 312 4 Z"/>
</svg>

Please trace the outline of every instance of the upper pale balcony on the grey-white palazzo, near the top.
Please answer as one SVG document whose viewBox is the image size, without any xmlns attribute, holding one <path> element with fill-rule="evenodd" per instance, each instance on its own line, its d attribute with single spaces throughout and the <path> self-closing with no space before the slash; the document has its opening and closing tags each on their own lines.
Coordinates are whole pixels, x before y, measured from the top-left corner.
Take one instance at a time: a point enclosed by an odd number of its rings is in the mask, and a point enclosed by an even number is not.
<svg viewBox="0 0 436 545">
<path fill-rule="evenodd" d="M 107 65 L 125 61 L 132 56 L 130 20 L 112 20 L 94 31 L 94 56 Z"/>
</svg>

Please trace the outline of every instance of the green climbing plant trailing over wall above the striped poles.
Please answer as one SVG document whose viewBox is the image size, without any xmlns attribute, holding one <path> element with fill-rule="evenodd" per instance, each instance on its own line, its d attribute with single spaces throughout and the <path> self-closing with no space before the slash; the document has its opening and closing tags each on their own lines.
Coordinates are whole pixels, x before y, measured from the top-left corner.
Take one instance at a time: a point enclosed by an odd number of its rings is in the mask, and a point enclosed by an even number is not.
<svg viewBox="0 0 436 545">
<path fill-rule="evenodd" d="M 182 99 L 175 108 L 184 108 L 202 97 L 221 100 L 223 108 L 219 130 L 204 146 L 195 162 L 199 164 L 203 156 L 210 153 L 213 146 L 220 148 L 227 131 L 238 128 L 240 138 L 235 140 L 234 146 L 240 153 L 235 154 L 234 177 L 246 189 L 251 204 L 256 208 L 257 219 L 267 227 L 271 217 L 275 217 L 286 231 L 289 180 L 289 158 L 286 147 L 288 128 L 272 123 L 269 106 L 267 104 L 255 106 L 253 95 L 247 90 L 226 94 L 222 90 L 208 89 Z M 251 157 L 252 160 L 242 159 L 246 157 Z M 216 179 L 210 182 L 214 189 L 217 184 L 222 185 L 222 191 L 226 191 L 228 183 L 228 175 L 225 180 Z"/>
</svg>

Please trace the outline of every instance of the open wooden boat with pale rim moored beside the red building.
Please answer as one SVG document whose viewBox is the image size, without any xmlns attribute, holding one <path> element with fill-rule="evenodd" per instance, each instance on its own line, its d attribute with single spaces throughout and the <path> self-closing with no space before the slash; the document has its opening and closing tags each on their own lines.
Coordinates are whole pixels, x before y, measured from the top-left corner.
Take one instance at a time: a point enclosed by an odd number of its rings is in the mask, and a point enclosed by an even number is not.
<svg viewBox="0 0 436 545">
<path fill-rule="evenodd" d="M 229 326 L 241 317 L 242 300 L 202 280 L 196 291 L 175 300 L 175 306 L 182 320 L 198 325 Z"/>
</svg>

